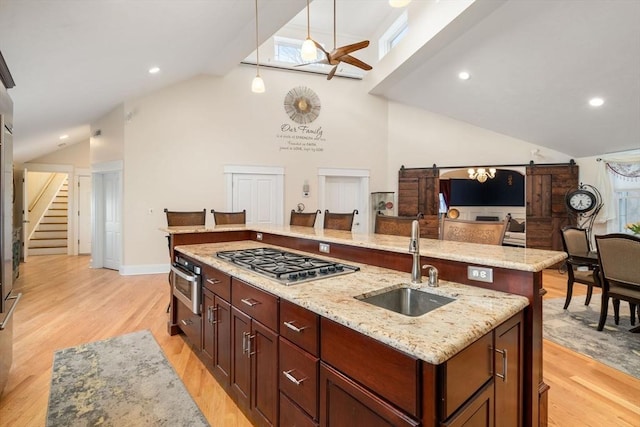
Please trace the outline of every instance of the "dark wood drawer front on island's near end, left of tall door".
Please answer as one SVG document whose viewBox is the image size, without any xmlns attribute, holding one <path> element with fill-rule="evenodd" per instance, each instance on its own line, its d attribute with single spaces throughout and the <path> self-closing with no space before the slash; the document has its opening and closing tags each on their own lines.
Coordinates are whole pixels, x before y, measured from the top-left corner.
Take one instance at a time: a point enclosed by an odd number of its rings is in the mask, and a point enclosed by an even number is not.
<svg viewBox="0 0 640 427">
<path fill-rule="evenodd" d="M 442 367 L 443 418 L 448 418 L 492 377 L 493 333 L 462 350 Z"/>
</svg>

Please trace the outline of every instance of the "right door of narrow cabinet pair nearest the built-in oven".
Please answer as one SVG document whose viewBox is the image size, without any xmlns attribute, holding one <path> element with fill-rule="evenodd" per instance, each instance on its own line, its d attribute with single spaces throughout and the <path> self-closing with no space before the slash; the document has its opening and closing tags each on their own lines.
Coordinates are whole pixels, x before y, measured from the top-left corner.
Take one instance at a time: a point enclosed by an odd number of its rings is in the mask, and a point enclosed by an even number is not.
<svg viewBox="0 0 640 427">
<path fill-rule="evenodd" d="M 227 387 L 231 376 L 231 306 L 217 295 L 214 301 L 213 374 L 224 387 Z"/>
</svg>

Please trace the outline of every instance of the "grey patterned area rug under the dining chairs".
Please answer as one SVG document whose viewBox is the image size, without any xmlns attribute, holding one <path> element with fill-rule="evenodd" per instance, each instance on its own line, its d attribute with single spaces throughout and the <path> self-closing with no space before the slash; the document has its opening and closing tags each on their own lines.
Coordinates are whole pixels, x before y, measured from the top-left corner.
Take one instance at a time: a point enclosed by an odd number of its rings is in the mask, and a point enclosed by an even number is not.
<svg viewBox="0 0 640 427">
<path fill-rule="evenodd" d="M 584 296 L 574 297 L 563 310 L 564 298 L 544 300 L 544 338 L 640 379 L 640 333 L 629 332 L 633 327 L 629 304 L 620 302 L 620 324 L 616 325 L 609 300 L 607 322 L 599 332 L 600 301 L 600 295 L 594 295 L 585 306 Z"/>
</svg>

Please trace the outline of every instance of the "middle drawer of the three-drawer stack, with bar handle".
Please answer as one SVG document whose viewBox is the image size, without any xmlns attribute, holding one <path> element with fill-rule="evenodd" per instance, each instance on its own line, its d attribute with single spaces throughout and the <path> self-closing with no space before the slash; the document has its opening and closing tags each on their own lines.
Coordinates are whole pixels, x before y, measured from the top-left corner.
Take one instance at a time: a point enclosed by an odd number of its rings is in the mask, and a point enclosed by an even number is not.
<svg viewBox="0 0 640 427">
<path fill-rule="evenodd" d="M 280 337 L 280 391 L 318 418 L 318 358 Z"/>
</svg>

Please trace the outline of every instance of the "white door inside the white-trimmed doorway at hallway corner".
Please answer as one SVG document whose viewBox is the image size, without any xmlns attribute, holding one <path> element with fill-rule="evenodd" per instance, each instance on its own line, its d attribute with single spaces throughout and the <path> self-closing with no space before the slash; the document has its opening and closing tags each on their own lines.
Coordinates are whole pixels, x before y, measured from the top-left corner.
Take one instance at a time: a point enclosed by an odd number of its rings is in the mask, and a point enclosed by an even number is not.
<svg viewBox="0 0 640 427">
<path fill-rule="evenodd" d="M 122 234 L 120 173 L 103 174 L 104 191 L 104 267 L 120 269 L 120 247 Z"/>
</svg>

